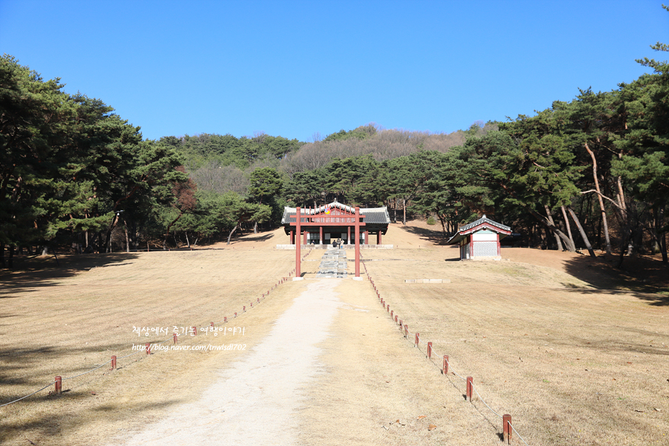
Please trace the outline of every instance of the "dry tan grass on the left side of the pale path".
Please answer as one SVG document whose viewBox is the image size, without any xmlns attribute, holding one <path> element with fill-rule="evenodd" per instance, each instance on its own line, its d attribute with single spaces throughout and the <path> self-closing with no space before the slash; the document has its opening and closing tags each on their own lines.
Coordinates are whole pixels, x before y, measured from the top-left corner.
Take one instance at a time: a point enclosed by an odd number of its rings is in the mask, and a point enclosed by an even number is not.
<svg viewBox="0 0 669 446">
<path fill-rule="evenodd" d="M 55 375 L 70 377 L 111 355 L 132 353 L 133 344 L 167 339 L 175 325 L 179 331 L 199 328 L 227 316 L 230 327 L 246 328 L 243 337 L 201 332 L 179 343 L 243 342 L 251 348 L 289 305 L 291 284 L 275 289 L 253 311 L 249 303 L 288 275 L 293 256 L 259 249 L 118 253 L 61 258 L 62 269 L 53 267 L 53 259 L 38 259 L 36 271 L 3 274 L 0 404 L 39 389 Z M 240 317 L 233 319 L 233 312 Z M 169 334 L 138 337 L 134 326 L 168 327 Z M 61 397 L 42 391 L 0 408 L 0 443 L 101 444 L 119 426 L 132 429 L 197 398 L 220 363 L 239 355 L 162 351 L 119 359 L 118 371 L 105 366 L 64 381 Z"/>
</svg>

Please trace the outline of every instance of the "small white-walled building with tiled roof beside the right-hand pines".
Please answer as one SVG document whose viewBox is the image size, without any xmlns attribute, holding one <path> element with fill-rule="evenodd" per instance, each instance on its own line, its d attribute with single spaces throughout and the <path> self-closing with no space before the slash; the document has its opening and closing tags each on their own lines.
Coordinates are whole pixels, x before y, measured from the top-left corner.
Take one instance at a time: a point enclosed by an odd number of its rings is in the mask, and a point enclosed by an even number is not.
<svg viewBox="0 0 669 446">
<path fill-rule="evenodd" d="M 511 228 L 488 217 L 465 224 L 448 244 L 460 245 L 460 260 L 501 260 L 499 240 L 511 234 Z"/>
</svg>

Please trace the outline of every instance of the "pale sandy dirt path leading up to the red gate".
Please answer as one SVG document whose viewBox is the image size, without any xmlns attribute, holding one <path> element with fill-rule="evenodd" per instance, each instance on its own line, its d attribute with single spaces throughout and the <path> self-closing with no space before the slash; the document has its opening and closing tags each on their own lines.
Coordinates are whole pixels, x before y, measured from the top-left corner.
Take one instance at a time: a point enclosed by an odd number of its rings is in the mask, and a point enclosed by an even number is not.
<svg viewBox="0 0 669 446">
<path fill-rule="evenodd" d="M 220 373 L 195 403 L 176 407 L 125 445 L 292 445 L 293 414 L 318 373 L 319 344 L 341 305 L 338 280 L 316 280 L 240 362 Z"/>
</svg>

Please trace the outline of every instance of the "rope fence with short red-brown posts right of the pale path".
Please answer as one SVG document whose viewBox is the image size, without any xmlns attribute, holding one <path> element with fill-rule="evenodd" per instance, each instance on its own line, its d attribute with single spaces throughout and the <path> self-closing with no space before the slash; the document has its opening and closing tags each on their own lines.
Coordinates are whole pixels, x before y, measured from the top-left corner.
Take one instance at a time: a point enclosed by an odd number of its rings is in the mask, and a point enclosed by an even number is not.
<svg viewBox="0 0 669 446">
<path fill-rule="evenodd" d="M 366 261 L 362 260 L 362 258 L 361 258 L 361 261 L 362 261 L 362 265 L 363 265 L 364 270 L 365 270 L 365 274 L 366 274 L 369 282 L 371 283 L 371 285 L 372 285 L 372 287 L 373 287 L 373 289 L 374 289 L 374 291 L 377 295 L 377 298 L 379 299 L 381 305 L 383 305 L 383 308 L 384 308 L 384 310 L 386 310 L 386 313 L 389 314 L 389 316 L 391 317 L 391 321 L 393 321 L 396 325 L 399 325 L 400 332 L 402 332 L 404 334 L 404 338 L 413 339 L 413 346 L 415 348 L 418 348 L 418 350 L 420 350 L 422 353 L 424 353 L 425 357 L 430 359 L 430 361 L 431 361 L 432 355 L 435 355 L 436 357 L 440 356 L 440 355 L 437 355 L 436 352 L 434 351 L 434 348 L 432 348 L 432 343 L 431 342 L 428 342 L 427 346 L 425 346 L 424 348 L 421 348 L 421 344 L 425 344 L 425 342 L 420 339 L 420 333 L 411 332 L 409 330 L 409 325 L 406 323 L 406 321 L 400 319 L 399 315 L 397 314 L 397 312 L 395 312 L 395 310 L 391 310 L 390 304 L 387 303 L 386 300 L 383 298 L 383 296 L 381 295 L 380 290 L 378 289 L 378 287 L 374 283 L 374 280 L 373 280 L 372 276 L 369 274 L 369 271 L 368 271 L 367 265 L 366 265 Z M 434 364 L 434 362 L 433 362 L 433 364 Z M 504 415 L 499 415 L 499 413 L 497 411 L 492 409 L 492 407 L 490 407 L 490 405 L 487 402 L 485 402 L 485 400 L 483 400 L 483 397 L 481 396 L 479 391 L 474 386 L 474 378 L 471 377 L 471 376 L 463 377 L 462 375 L 457 373 L 454 370 L 454 368 L 452 368 L 448 355 L 443 355 L 443 368 L 442 368 L 441 372 L 448 379 L 450 379 L 448 373 L 451 372 L 451 373 L 453 373 L 453 375 L 456 375 L 461 380 L 465 381 L 467 383 L 466 384 L 466 391 L 465 391 L 465 398 L 467 398 L 467 400 L 473 404 L 472 397 L 473 397 L 474 393 L 476 393 L 476 396 L 479 398 L 479 400 L 481 400 L 481 402 L 483 402 L 483 404 L 485 404 L 485 407 L 488 407 L 488 409 L 490 409 L 490 411 L 492 413 L 494 413 L 494 415 L 496 415 L 497 417 L 502 419 L 502 434 L 503 434 L 504 443 L 507 443 L 507 444 L 510 445 L 511 444 L 511 438 L 512 438 L 512 432 L 515 432 L 515 435 L 517 436 L 517 438 L 519 438 L 519 440 L 521 440 L 526 446 L 529 446 L 528 443 L 524 440 L 524 438 L 522 438 L 520 436 L 520 434 L 518 434 L 518 431 L 515 429 L 515 427 L 513 427 L 512 423 L 511 423 L 511 416 L 508 413 L 506 413 Z"/>
</svg>

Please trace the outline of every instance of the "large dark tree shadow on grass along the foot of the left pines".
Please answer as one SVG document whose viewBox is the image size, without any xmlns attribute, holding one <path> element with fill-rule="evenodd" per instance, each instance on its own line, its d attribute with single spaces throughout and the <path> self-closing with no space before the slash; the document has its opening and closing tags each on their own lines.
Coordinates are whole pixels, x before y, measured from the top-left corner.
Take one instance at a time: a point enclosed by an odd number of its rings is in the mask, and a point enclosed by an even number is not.
<svg viewBox="0 0 669 446">
<path fill-rule="evenodd" d="M 137 257 L 136 253 L 82 254 L 59 256 L 58 263 L 53 256 L 18 257 L 14 269 L 0 270 L 0 298 L 14 297 L 15 292 L 25 288 L 56 286 L 62 278 L 92 268 L 125 265 Z"/>
</svg>

